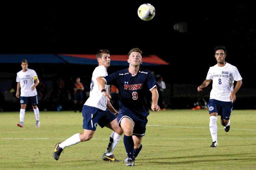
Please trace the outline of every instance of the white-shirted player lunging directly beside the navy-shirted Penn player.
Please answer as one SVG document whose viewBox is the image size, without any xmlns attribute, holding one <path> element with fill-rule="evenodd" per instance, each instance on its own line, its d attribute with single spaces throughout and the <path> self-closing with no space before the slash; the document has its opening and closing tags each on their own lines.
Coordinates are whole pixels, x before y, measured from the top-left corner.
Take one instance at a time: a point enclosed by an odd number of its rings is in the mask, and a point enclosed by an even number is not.
<svg viewBox="0 0 256 170">
<path fill-rule="evenodd" d="M 118 122 L 116 121 L 116 110 L 111 105 L 110 101 L 103 96 L 98 88 L 97 82 L 97 79 L 101 79 L 108 75 L 107 69 L 110 66 L 109 50 L 99 50 L 96 54 L 96 58 L 99 66 L 96 67 L 92 73 L 90 97 L 86 100 L 82 109 L 83 133 L 74 134 L 65 141 L 57 143 L 53 152 L 55 160 L 59 159 L 60 153 L 64 148 L 75 145 L 79 142 L 90 140 L 99 125 L 101 128 L 108 127 L 113 130 L 110 135 L 109 145 L 105 153 L 102 155 L 102 159 L 104 161 L 120 162 L 114 157 L 112 152 L 119 143 L 123 130 L 119 127 Z M 106 85 L 104 88 L 108 92 L 109 86 Z"/>
</svg>

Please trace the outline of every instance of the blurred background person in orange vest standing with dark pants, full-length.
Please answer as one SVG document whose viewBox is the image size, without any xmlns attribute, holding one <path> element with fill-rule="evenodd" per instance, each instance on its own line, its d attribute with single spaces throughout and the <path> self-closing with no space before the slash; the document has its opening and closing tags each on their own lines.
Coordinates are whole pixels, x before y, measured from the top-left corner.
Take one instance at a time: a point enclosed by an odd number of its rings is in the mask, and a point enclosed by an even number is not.
<svg viewBox="0 0 256 170">
<path fill-rule="evenodd" d="M 80 82 L 80 78 L 76 78 L 76 83 L 74 83 L 74 112 L 79 109 L 79 112 L 82 112 L 83 106 L 83 90 L 84 85 Z"/>
</svg>

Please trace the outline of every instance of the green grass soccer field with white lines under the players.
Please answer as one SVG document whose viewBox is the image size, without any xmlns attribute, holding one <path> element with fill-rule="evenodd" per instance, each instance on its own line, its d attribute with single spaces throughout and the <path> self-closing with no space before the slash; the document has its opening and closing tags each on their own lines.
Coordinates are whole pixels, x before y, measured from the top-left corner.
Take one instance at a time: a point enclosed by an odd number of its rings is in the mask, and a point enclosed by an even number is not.
<svg viewBox="0 0 256 170">
<path fill-rule="evenodd" d="M 79 112 L 41 111 L 39 128 L 34 112 L 26 112 L 23 128 L 18 111 L 1 112 L 0 169 L 255 169 L 256 110 L 233 110 L 230 120 L 227 133 L 218 116 L 219 146 L 211 148 L 208 110 L 151 111 L 135 166 L 126 167 L 123 137 L 114 151 L 121 162 L 102 160 L 112 131 L 100 126 L 91 140 L 53 158 L 56 143 L 83 132 Z"/>
</svg>

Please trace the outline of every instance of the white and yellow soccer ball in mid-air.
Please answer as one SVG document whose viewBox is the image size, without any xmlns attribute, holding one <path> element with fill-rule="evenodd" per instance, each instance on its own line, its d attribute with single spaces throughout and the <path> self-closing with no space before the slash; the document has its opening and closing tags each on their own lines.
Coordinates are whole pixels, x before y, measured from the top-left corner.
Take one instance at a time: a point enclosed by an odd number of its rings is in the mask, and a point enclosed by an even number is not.
<svg viewBox="0 0 256 170">
<path fill-rule="evenodd" d="M 152 20 L 154 18 L 155 14 L 156 14 L 155 7 L 153 7 L 151 4 L 142 4 L 138 8 L 138 16 L 143 21 Z"/>
</svg>

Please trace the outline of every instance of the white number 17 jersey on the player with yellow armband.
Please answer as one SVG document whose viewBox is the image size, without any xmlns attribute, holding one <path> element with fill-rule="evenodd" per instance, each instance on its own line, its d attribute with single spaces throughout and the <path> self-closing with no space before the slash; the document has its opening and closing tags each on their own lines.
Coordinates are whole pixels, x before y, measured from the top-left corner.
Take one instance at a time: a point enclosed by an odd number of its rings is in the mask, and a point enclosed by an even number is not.
<svg viewBox="0 0 256 170">
<path fill-rule="evenodd" d="M 31 87 L 35 85 L 34 77 L 37 77 L 37 74 L 33 69 L 27 69 L 25 72 L 21 70 L 17 73 L 16 82 L 20 83 L 20 96 L 31 97 L 37 95 L 36 88 L 33 91 L 31 90 Z"/>
</svg>

